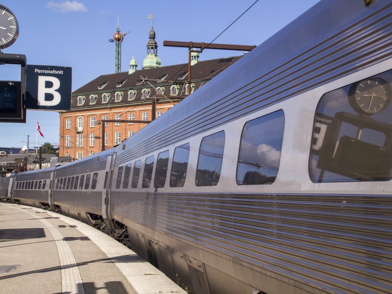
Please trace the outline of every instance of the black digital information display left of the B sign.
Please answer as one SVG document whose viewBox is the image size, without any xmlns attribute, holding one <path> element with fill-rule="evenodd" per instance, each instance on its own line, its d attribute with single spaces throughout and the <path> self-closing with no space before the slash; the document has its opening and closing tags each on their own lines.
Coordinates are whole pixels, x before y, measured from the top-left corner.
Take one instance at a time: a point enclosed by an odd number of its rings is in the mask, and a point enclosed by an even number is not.
<svg viewBox="0 0 392 294">
<path fill-rule="evenodd" d="M 0 122 L 25 123 L 21 81 L 0 81 Z"/>
</svg>

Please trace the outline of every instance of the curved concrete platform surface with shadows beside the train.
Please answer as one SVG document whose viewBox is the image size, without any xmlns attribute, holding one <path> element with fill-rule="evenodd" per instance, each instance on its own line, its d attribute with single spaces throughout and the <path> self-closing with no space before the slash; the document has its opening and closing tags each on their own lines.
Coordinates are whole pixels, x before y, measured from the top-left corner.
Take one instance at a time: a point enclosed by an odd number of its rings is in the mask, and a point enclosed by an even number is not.
<svg viewBox="0 0 392 294">
<path fill-rule="evenodd" d="M 186 292 L 97 229 L 39 208 L 0 203 L 0 293 Z"/>
</svg>

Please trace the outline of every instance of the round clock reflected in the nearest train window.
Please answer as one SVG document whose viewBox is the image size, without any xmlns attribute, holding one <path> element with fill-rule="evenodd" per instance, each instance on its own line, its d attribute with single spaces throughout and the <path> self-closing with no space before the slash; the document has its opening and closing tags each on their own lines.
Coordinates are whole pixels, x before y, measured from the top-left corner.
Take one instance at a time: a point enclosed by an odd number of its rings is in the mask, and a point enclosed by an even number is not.
<svg viewBox="0 0 392 294">
<path fill-rule="evenodd" d="M 373 115 L 387 107 L 391 93 L 391 86 L 386 80 L 369 77 L 354 84 L 349 102 L 358 113 Z"/>
</svg>

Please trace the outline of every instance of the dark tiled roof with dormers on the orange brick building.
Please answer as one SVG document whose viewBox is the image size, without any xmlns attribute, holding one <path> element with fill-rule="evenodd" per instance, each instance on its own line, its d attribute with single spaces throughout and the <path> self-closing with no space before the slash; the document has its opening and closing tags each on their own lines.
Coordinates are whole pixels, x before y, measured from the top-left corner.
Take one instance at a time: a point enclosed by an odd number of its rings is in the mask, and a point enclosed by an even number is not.
<svg viewBox="0 0 392 294">
<path fill-rule="evenodd" d="M 195 85 L 195 90 L 198 89 L 203 83 L 213 78 L 218 73 L 221 73 L 229 65 L 236 62 L 242 56 L 225 57 L 219 59 L 211 59 L 206 61 L 199 61 L 192 66 L 192 83 Z M 86 108 L 99 108 L 110 105 L 110 107 L 128 105 L 130 103 L 143 103 L 142 90 L 144 88 L 150 89 L 151 93 L 155 94 L 154 89 L 146 82 L 142 81 L 143 78 L 150 79 L 150 83 L 154 87 L 164 87 L 165 96 L 170 96 L 170 88 L 173 85 L 172 82 L 167 82 L 167 80 L 182 79 L 183 81 L 188 80 L 188 64 L 177 64 L 153 69 L 138 70 L 135 73 L 128 74 L 128 72 L 122 73 L 112 73 L 103 74 L 88 82 L 84 86 L 75 90 L 72 93 L 71 109 L 72 110 L 82 110 Z M 164 79 L 162 82 L 157 82 L 153 80 Z M 121 84 L 120 87 L 118 85 Z M 101 87 L 102 89 L 98 89 Z M 179 86 L 178 96 L 185 95 L 185 85 Z M 129 90 L 136 91 L 136 97 L 134 100 L 128 100 Z M 115 101 L 115 93 L 122 92 L 123 97 L 120 101 Z M 102 103 L 102 95 L 104 93 L 110 94 L 108 102 Z M 90 96 L 96 95 L 96 101 L 90 104 Z M 77 105 L 77 98 L 83 96 L 85 98 L 82 105 Z M 172 96 L 171 98 L 176 98 Z"/>
</svg>

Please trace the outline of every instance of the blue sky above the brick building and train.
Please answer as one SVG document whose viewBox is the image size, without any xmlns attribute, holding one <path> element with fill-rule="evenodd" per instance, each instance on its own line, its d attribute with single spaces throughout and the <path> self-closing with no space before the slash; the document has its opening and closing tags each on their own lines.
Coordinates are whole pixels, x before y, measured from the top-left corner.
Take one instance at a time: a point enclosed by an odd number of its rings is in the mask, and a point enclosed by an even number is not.
<svg viewBox="0 0 392 294">
<path fill-rule="evenodd" d="M 209 43 L 256 0 L 1 0 L 16 16 L 19 37 L 2 51 L 25 54 L 27 64 L 72 67 L 72 91 L 101 74 L 115 72 L 117 29 L 130 31 L 122 43 L 122 71 L 132 56 L 142 68 L 153 26 L 162 66 L 187 63 L 186 48 L 163 47 L 164 40 Z M 259 0 L 214 43 L 260 45 L 318 0 Z M 204 50 L 199 60 L 241 55 L 241 51 Z M 20 80 L 20 66 L 1 65 L 0 80 Z M 0 147 L 34 147 L 36 121 L 44 138 L 38 146 L 59 143 L 59 117 L 53 111 L 27 110 L 26 123 L 0 123 Z"/>
</svg>

